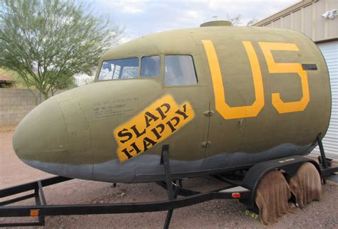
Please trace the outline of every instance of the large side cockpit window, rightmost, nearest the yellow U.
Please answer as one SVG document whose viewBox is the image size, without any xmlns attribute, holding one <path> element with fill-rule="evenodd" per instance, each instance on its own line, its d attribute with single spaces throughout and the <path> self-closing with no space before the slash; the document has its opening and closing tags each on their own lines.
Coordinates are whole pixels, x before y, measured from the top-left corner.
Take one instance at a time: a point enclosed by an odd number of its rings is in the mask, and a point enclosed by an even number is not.
<svg viewBox="0 0 338 229">
<path fill-rule="evenodd" d="M 197 78 L 191 55 L 165 55 L 165 85 L 195 85 Z"/>
</svg>

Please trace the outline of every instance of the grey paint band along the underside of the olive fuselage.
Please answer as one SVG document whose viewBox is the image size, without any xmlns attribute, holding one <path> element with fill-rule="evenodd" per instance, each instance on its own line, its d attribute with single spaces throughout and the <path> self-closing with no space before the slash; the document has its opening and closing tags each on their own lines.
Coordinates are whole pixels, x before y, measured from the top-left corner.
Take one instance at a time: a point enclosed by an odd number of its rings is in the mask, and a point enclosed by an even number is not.
<svg viewBox="0 0 338 229">
<path fill-rule="evenodd" d="M 217 154 L 217 156 L 196 161 L 170 159 L 170 169 L 173 179 L 205 176 L 250 167 L 260 161 L 308 154 L 313 147 L 314 145 L 281 144 L 255 154 L 243 152 Z M 50 174 L 76 179 L 114 183 L 163 181 L 165 179 L 163 165 L 160 165 L 160 156 L 158 155 L 140 155 L 123 164 L 118 159 L 94 165 L 55 164 L 28 160 L 24 160 L 24 162 Z"/>
</svg>

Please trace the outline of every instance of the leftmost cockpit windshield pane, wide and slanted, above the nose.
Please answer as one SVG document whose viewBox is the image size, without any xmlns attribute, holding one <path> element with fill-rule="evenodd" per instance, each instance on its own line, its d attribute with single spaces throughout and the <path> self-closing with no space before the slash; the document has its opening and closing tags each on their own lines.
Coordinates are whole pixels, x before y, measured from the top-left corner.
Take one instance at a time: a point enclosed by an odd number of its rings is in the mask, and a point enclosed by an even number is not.
<svg viewBox="0 0 338 229">
<path fill-rule="evenodd" d="M 98 80 L 119 80 L 138 77 L 138 58 L 105 60 Z"/>
</svg>

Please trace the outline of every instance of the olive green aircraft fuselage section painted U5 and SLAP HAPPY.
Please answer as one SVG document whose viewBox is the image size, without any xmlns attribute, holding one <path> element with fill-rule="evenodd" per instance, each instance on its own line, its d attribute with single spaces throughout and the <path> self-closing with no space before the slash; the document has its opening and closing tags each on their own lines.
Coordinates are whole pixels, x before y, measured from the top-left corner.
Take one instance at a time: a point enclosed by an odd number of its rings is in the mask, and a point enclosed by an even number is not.
<svg viewBox="0 0 338 229">
<path fill-rule="evenodd" d="M 141 78 L 140 66 L 138 78 L 98 80 L 105 60 L 138 58 L 140 65 L 141 58 L 152 55 L 160 56 L 156 77 Z M 191 55 L 198 82 L 165 85 L 165 55 Z M 26 164 L 51 174 L 156 181 L 163 179 L 163 144 L 170 145 L 176 178 L 231 171 L 308 154 L 317 135 L 327 132 L 330 112 L 327 66 L 302 33 L 191 28 L 155 33 L 109 50 L 99 62 L 96 82 L 51 97 L 21 121 L 14 149 Z"/>
</svg>

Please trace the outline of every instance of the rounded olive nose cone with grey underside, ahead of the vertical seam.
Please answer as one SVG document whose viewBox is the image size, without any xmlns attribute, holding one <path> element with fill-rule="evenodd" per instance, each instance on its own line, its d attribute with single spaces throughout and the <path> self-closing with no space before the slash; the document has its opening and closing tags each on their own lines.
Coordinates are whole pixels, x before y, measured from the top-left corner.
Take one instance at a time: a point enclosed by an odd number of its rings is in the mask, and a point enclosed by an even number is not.
<svg viewBox="0 0 338 229">
<path fill-rule="evenodd" d="M 14 132 L 13 147 L 24 163 L 36 169 L 90 179 L 93 162 L 89 136 L 78 99 L 69 91 L 29 112 Z"/>
</svg>

